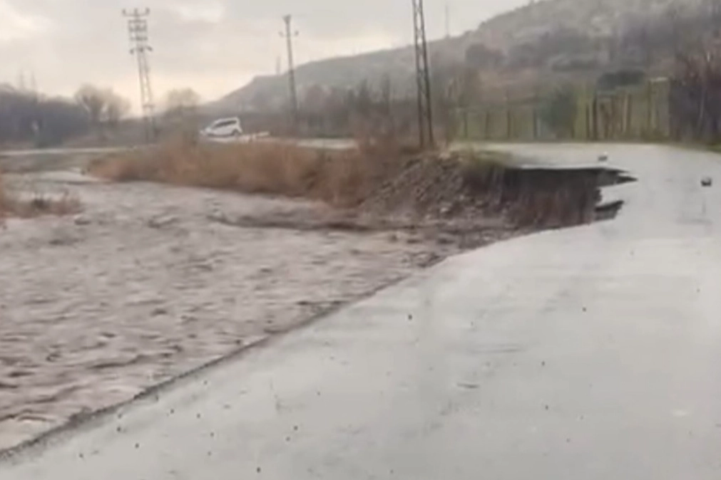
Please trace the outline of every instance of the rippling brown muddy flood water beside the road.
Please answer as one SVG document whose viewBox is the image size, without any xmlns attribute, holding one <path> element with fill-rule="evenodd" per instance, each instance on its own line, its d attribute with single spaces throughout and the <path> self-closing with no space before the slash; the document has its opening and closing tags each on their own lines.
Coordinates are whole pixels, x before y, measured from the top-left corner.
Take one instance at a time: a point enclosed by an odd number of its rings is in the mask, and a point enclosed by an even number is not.
<svg viewBox="0 0 721 480">
<path fill-rule="evenodd" d="M 0 229 L 0 450 L 457 251 L 412 232 L 294 229 L 323 212 L 305 201 L 71 172 L 10 181 L 69 191 L 84 211 Z"/>
</svg>

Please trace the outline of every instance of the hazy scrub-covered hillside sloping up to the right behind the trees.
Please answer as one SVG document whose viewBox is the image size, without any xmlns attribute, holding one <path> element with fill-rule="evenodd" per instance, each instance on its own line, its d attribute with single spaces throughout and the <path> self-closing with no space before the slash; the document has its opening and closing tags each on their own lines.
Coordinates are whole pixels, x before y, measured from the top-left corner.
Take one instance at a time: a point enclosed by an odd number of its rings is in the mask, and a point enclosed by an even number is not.
<svg viewBox="0 0 721 480">
<path fill-rule="evenodd" d="M 716 0 L 541 0 L 492 18 L 477 30 L 431 42 L 436 89 L 455 89 L 466 103 L 479 90 L 538 88 L 569 79 L 596 81 L 618 70 L 671 72 L 685 42 L 721 24 Z M 694 38 L 691 38 L 694 37 Z M 395 99 L 415 91 L 411 47 L 301 65 L 301 108 L 337 103 L 349 91 L 389 88 Z M 287 78 L 257 77 L 208 105 L 213 112 L 281 109 Z"/>
</svg>

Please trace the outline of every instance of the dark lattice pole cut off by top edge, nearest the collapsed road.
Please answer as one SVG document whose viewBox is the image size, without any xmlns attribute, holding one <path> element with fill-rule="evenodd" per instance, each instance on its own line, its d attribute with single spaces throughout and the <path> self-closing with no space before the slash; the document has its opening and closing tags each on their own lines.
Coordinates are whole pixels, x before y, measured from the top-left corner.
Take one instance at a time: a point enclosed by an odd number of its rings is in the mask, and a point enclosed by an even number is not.
<svg viewBox="0 0 721 480">
<path fill-rule="evenodd" d="M 423 0 L 412 0 L 413 32 L 415 40 L 415 75 L 418 101 L 418 140 L 420 148 L 433 148 L 433 107 L 430 102 L 430 71 L 428 68 L 428 42 L 425 40 L 425 14 Z"/>
</svg>

